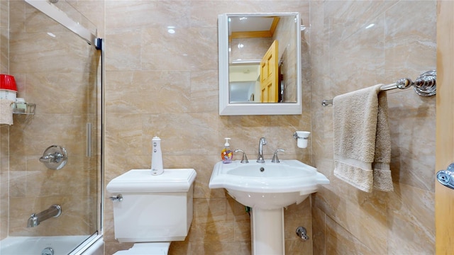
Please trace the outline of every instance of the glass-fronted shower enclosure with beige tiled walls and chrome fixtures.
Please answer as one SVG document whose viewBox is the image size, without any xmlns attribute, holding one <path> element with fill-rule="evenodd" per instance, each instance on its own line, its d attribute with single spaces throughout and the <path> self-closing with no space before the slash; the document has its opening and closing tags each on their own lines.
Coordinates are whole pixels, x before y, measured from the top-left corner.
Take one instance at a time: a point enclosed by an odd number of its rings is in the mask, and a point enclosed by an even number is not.
<svg viewBox="0 0 454 255">
<path fill-rule="evenodd" d="M 74 253 L 101 235 L 102 41 L 65 0 L 0 0 L 0 17 L 0 72 L 35 104 L 0 127 L 0 253 L 18 237 L 45 237 L 50 249 L 70 237 L 55 255 Z M 41 158 L 52 145 L 67 152 L 61 169 Z M 52 205 L 60 206 L 58 217 L 27 227 L 32 213 Z"/>
</svg>

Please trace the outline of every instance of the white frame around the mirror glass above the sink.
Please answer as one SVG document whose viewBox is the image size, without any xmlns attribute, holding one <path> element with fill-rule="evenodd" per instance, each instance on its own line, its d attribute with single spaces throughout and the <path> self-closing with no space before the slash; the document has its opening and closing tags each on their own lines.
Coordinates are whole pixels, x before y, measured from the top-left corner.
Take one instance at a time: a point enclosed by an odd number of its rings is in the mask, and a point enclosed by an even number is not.
<svg viewBox="0 0 454 255">
<path fill-rule="evenodd" d="M 297 102 L 230 103 L 228 90 L 228 17 L 296 16 L 297 17 Z M 301 108 L 301 21 L 299 13 L 224 13 L 218 16 L 219 46 L 219 115 L 299 115 Z"/>
</svg>

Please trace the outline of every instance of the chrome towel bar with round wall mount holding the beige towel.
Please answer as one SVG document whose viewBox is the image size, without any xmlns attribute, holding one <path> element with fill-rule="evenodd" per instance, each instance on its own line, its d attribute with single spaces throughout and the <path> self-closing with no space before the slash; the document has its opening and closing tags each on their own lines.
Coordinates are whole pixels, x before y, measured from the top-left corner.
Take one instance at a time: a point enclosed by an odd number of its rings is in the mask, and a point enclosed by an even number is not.
<svg viewBox="0 0 454 255">
<path fill-rule="evenodd" d="M 437 85 L 436 85 L 437 72 L 431 70 L 421 74 L 416 81 L 411 81 L 409 78 L 399 79 L 399 81 L 383 85 L 380 87 L 380 91 L 388 91 L 392 89 L 408 89 L 413 86 L 414 91 L 419 96 L 433 96 L 436 94 Z M 321 101 L 322 106 L 332 106 L 333 99 Z"/>
</svg>

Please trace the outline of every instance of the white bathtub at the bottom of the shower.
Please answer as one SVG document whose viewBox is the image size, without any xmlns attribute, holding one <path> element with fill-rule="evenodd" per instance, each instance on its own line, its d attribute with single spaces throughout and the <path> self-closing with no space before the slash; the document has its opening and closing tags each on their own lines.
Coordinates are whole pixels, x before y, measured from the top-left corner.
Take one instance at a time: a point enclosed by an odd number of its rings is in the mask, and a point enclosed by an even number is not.
<svg viewBox="0 0 454 255">
<path fill-rule="evenodd" d="M 85 241 L 80 244 L 83 240 Z M 0 243 L 0 255 L 52 255 L 52 251 L 53 255 L 104 254 L 104 241 L 99 235 L 94 237 L 6 237 Z"/>
</svg>

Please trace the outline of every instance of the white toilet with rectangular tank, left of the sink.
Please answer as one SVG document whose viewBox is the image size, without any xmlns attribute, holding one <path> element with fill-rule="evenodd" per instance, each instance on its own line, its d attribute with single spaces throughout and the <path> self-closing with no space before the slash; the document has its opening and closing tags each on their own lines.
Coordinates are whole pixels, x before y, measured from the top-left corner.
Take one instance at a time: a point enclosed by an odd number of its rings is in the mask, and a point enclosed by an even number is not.
<svg viewBox="0 0 454 255">
<path fill-rule="evenodd" d="M 135 243 L 114 255 L 167 255 L 172 241 L 184 241 L 192 222 L 194 169 L 132 169 L 110 181 L 118 242 Z"/>
</svg>

